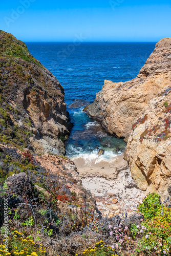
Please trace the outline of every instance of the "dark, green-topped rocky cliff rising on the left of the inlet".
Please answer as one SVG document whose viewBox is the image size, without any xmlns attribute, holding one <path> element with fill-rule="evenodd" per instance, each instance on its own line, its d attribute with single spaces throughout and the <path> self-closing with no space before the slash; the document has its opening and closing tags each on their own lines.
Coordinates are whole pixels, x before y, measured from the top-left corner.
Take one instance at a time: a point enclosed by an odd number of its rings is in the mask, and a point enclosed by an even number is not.
<svg viewBox="0 0 171 256">
<path fill-rule="evenodd" d="M 72 127 L 60 83 L 24 42 L 0 31 L 0 141 L 65 154 Z"/>
</svg>

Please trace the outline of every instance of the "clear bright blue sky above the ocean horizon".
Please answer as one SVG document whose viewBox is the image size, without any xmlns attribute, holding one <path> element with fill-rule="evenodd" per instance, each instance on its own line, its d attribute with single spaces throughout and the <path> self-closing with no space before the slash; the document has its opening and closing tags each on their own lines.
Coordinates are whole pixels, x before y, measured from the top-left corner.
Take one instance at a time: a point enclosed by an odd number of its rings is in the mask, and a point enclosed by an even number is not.
<svg viewBox="0 0 171 256">
<path fill-rule="evenodd" d="M 2 0 L 0 17 L 0 30 L 25 42 L 157 42 L 171 36 L 170 0 Z"/>
</svg>

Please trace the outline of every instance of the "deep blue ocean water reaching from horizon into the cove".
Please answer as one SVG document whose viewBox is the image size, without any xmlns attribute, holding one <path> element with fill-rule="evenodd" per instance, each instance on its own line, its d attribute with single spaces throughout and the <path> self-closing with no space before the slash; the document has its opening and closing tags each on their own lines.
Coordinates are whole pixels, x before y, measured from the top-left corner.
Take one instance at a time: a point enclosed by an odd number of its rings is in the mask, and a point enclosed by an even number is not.
<svg viewBox="0 0 171 256">
<path fill-rule="evenodd" d="M 103 131 L 101 125 L 82 112 L 92 103 L 104 80 L 114 82 L 135 78 L 155 42 L 26 42 L 30 53 L 40 60 L 59 80 L 65 90 L 74 127 L 67 142 L 69 157 L 81 156 L 85 160 L 98 159 L 99 148 L 104 150 L 100 159 L 110 160 L 125 148 L 122 139 Z M 78 103 L 77 108 L 70 104 Z"/>
</svg>

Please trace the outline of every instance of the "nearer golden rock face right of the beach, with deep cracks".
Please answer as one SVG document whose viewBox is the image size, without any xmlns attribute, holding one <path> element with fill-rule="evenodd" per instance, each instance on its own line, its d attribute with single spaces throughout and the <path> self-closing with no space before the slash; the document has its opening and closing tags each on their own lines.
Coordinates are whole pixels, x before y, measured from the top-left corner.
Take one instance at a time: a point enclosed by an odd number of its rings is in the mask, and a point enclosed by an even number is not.
<svg viewBox="0 0 171 256">
<path fill-rule="evenodd" d="M 133 125 L 124 152 L 142 190 L 168 196 L 171 184 L 171 88 L 149 101 L 149 111 Z"/>
</svg>

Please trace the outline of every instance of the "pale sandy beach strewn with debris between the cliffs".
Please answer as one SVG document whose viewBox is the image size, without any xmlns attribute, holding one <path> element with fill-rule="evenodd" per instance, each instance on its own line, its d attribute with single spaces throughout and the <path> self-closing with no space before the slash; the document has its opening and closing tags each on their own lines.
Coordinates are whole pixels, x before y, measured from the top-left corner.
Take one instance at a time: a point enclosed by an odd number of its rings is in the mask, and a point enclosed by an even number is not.
<svg viewBox="0 0 171 256">
<path fill-rule="evenodd" d="M 131 177 L 130 168 L 123 154 L 111 161 L 87 164 L 84 159 L 72 159 L 78 168 L 83 186 L 94 195 L 97 208 L 103 216 L 113 217 L 127 212 L 137 212 L 145 194 Z"/>
</svg>

